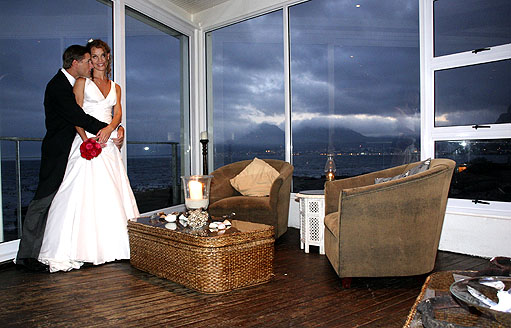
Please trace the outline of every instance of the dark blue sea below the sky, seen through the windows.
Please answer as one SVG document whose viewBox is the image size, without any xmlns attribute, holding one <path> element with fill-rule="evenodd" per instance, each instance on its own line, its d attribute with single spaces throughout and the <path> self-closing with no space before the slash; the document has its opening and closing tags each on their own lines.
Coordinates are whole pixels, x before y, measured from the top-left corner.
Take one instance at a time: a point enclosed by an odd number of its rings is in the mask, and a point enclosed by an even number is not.
<svg viewBox="0 0 511 328">
<path fill-rule="evenodd" d="M 228 156 L 216 154 L 215 163 L 218 163 L 217 166 L 219 167 L 225 163 L 252 159 L 254 157 L 284 160 L 284 155 L 280 152 L 273 154 L 230 153 Z M 295 178 L 307 177 L 309 180 L 310 178 L 321 179 L 325 174 L 324 167 L 326 159 L 326 154 L 319 152 L 295 154 L 293 156 L 293 165 L 295 167 L 293 176 Z M 347 177 L 399 165 L 402 164 L 401 162 L 404 159 L 402 156 L 393 154 L 347 153 L 336 154 L 334 160 L 337 170 L 336 176 Z M 5 234 L 12 235 L 13 233 L 15 234 L 17 230 L 16 162 L 14 160 L 2 160 L 1 165 L 3 228 Z M 24 214 L 28 204 L 34 197 L 38 183 L 39 165 L 40 160 L 38 159 L 25 159 L 20 161 L 22 214 Z M 172 187 L 174 174 L 172 173 L 169 157 L 128 158 L 127 172 L 135 196 L 148 191 L 163 190 Z M 181 172 L 178 165 L 178 172 L 175 174 L 175 177 L 179 185 L 180 175 Z M 302 183 L 301 186 L 305 186 L 305 189 L 307 189 L 307 182 L 305 181 L 304 183 L 305 185 Z"/>
</svg>

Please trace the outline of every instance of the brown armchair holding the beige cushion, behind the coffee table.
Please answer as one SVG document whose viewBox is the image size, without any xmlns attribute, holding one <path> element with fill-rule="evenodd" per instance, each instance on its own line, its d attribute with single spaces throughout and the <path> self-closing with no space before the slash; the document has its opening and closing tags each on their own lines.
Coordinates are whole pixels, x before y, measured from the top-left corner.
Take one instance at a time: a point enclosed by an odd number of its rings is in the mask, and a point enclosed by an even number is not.
<svg viewBox="0 0 511 328">
<path fill-rule="evenodd" d="M 265 159 L 280 175 L 271 186 L 266 197 L 242 196 L 230 183 L 252 160 L 236 162 L 222 166 L 211 173 L 211 192 L 208 211 L 213 216 L 236 213 L 235 219 L 272 225 L 275 238 L 287 231 L 289 198 L 293 166 L 287 162 Z"/>
</svg>

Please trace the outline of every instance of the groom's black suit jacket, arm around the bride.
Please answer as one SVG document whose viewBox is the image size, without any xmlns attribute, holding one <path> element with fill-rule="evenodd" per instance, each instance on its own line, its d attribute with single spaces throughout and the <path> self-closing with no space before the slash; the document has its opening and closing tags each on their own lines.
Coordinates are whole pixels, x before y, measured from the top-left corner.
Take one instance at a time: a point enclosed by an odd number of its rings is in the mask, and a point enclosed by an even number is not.
<svg viewBox="0 0 511 328">
<path fill-rule="evenodd" d="M 46 135 L 41 146 L 39 185 L 34 199 L 57 191 L 66 171 L 67 159 L 76 135 L 75 125 L 96 134 L 107 126 L 85 114 L 76 103 L 73 87 L 62 71 L 46 85 L 44 93 Z"/>
</svg>

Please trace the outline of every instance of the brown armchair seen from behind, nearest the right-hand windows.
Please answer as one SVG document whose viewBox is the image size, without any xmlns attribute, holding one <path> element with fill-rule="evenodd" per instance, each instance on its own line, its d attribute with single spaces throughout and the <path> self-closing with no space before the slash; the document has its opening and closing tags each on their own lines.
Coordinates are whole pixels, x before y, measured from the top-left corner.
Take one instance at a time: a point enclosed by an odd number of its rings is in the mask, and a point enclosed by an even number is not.
<svg viewBox="0 0 511 328">
<path fill-rule="evenodd" d="M 325 183 L 325 253 L 344 286 L 433 270 L 456 163 L 433 159 L 424 172 L 374 183 L 419 164 Z"/>
</svg>

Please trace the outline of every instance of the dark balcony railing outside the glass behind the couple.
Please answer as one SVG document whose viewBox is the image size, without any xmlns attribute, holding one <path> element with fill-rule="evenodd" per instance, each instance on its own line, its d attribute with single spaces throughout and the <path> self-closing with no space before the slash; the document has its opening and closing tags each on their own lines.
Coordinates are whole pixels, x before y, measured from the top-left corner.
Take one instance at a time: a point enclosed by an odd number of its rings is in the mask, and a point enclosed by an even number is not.
<svg viewBox="0 0 511 328">
<path fill-rule="evenodd" d="M 20 144 L 21 142 L 43 141 L 42 138 L 21 138 L 21 137 L 0 137 L 0 141 L 12 141 L 16 146 L 16 197 L 17 197 L 17 213 L 16 221 L 18 224 L 18 238 L 21 238 L 22 232 L 22 221 L 21 221 L 21 157 L 20 157 Z M 170 170 L 172 173 L 172 203 L 177 204 L 179 202 L 179 192 L 177 187 L 178 176 L 177 176 L 177 146 L 178 142 L 171 141 L 127 141 L 128 145 L 131 144 L 150 144 L 150 145 L 171 145 L 171 163 Z M 0 242 L 3 241 L 3 220 L 0 220 Z"/>
</svg>

